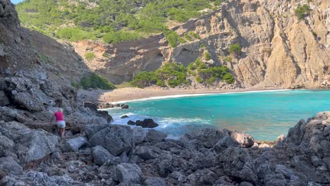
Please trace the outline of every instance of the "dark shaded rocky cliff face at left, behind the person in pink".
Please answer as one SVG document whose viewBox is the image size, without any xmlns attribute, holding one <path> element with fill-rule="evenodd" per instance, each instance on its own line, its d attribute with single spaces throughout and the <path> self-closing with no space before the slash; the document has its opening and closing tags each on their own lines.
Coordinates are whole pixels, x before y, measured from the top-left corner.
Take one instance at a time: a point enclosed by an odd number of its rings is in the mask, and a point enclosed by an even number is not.
<svg viewBox="0 0 330 186">
<path fill-rule="evenodd" d="M 6 100 L 0 106 L 72 111 L 77 94 L 71 82 L 88 72 L 73 49 L 20 27 L 13 4 L 0 1 L 0 93 Z"/>
</svg>

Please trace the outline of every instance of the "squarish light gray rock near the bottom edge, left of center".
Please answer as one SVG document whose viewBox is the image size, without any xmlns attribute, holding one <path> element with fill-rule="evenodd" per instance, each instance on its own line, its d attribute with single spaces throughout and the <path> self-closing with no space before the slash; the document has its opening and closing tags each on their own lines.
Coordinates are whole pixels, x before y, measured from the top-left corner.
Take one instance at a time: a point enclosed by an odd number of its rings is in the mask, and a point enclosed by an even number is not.
<svg viewBox="0 0 330 186">
<path fill-rule="evenodd" d="M 126 183 L 140 183 L 142 171 L 136 164 L 121 163 L 115 167 L 114 180 Z"/>
</svg>

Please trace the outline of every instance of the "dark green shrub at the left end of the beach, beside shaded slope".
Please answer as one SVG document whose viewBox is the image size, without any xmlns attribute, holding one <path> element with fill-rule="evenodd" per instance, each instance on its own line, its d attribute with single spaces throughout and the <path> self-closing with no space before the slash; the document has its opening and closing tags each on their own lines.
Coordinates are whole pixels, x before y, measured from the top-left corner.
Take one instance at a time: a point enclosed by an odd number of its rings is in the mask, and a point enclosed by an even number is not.
<svg viewBox="0 0 330 186">
<path fill-rule="evenodd" d="M 90 77 L 82 77 L 80 80 L 80 85 L 83 89 L 115 89 L 116 87 L 112 85 L 111 82 L 106 80 L 106 78 L 97 75 L 96 73 L 92 73 Z"/>
</svg>

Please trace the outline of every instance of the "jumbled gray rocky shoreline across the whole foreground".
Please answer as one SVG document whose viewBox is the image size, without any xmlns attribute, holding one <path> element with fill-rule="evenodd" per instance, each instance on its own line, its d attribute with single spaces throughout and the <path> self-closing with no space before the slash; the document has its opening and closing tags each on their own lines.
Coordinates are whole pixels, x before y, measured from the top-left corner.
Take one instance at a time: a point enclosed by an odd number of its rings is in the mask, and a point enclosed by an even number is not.
<svg viewBox="0 0 330 186">
<path fill-rule="evenodd" d="M 154 129 L 109 124 L 93 112 L 80 107 L 68 115 L 66 139 L 49 124 L 19 123 L 20 114 L 2 120 L 0 185 L 330 184 L 330 112 L 300 120 L 274 146 L 230 130 L 167 139 Z"/>
</svg>

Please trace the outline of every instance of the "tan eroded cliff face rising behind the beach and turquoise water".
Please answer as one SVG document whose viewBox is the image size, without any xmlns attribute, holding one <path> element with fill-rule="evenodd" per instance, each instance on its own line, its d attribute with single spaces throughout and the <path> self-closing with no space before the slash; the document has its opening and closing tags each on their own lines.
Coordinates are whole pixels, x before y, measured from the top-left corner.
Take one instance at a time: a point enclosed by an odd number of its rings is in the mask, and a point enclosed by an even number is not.
<svg viewBox="0 0 330 186">
<path fill-rule="evenodd" d="M 299 20 L 295 8 L 309 4 L 310 16 Z M 138 42 L 98 44 L 107 57 L 87 64 L 109 80 L 130 80 L 140 70 L 154 70 L 161 61 L 188 65 L 202 56 L 204 43 L 212 59 L 233 71 L 243 87 L 307 87 L 330 85 L 330 4 L 329 1 L 230 1 L 219 10 L 174 27 L 179 35 L 196 32 L 201 39 L 171 49 L 163 35 Z M 229 46 L 239 43 L 242 53 L 225 61 Z M 75 44 L 78 54 L 99 51 Z M 102 63 L 99 68 L 95 64 Z"/>
</svg>

